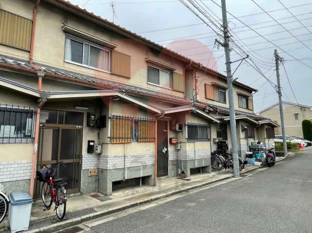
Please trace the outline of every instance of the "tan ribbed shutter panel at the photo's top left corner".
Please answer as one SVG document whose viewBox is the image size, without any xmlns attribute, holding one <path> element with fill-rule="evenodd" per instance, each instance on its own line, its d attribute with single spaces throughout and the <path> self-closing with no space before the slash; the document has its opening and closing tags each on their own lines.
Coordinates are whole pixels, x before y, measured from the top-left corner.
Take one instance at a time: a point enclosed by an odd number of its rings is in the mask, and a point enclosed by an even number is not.
<svg viewBox="0 0 312 233">
<path fill-rule="evenodd" d="M 0 10 L 0 43 L 30 49 L 32 21 Z"/>
</svg>

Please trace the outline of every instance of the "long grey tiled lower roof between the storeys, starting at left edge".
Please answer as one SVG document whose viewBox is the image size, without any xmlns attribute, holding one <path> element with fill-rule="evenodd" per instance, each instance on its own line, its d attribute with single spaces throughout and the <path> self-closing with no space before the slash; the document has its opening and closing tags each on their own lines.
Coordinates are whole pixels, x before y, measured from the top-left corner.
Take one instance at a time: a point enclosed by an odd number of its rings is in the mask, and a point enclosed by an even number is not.
<svg viewBox="0 0 312 233">
<path fill-rule="evenodd" d="M 28 60 L 23 60 L 20 58 L 15 58 L 15 57 L 2 55 L 2 54 L 0 54 L 0 64 L 6 64 L 6 65 L 16 67 L 16 68 L 23 68 L 25 69 L 25 71 L 32 71 L 32 72 L 39 71 L 39 69 L 31 66 Z M 182 97 L 178 97 L 175 95 L 166 94 L 166 93 L 162 93 L 162 92 L 158 92 L 154 90 L 139 88 L 137 86 L 119 83 L 116 81 L 111 81 L 111 80 L 107 80 L 107 79 L 103 79 L 99 77 L 93 77 L 90 75 L 85 75 L 85 74 L 81 74 L 77 72 L 70 72 L 67 70 L 63 70 L 63 69 L 59 69 L 59 68 L 39 64 L 39 63 L 34 63 L 34 64 L 41 67 L 43 71 L 46 72 L 47 74 L 64 77 L 69 80 L 72 79 L 73 81 L 82 81 L 85 83 L 90 83 L 90 85 L 98 87 L 98 89 L 106 88 L 106 89 L 125 90 L 125 92 L 129 94 L 144 95 L 150 98 L 160 98 L 160 99 L 167 100 L 169 102 L 172 101 L 172 102 L 179 102 L 183 104 L 191 104 L 191 100 L 187 98 L 182 98 Z"/>
</svg>

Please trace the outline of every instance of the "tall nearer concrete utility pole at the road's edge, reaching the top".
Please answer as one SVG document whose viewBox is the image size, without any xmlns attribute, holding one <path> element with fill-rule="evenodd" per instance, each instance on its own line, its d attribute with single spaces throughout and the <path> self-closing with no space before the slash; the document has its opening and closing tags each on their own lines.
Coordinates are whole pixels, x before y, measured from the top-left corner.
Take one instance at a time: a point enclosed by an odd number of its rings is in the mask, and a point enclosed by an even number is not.
<svg viewBox="0 0 312 233">
<path fill-rule="evenodd" d="M 230 47 L 229 47 L 230 36 L 229 36 L 229 30 L 228 30 L 228 20 L 227 20 L 227 15 L 226 15 L 225 0 L 221 0 L 221 6 L 222 6 L 222 21 L 223 21 L 223 36 L 224 36 L 224 42 L 222 45 L 225 51 L 226 77 L 227 77 L 227 82 L 228 82 L 231 139 L 232 139 L 232 152 L 233 152 L 233 162 L 234 162 L 234 178 L 239 178 L 237 135 L 236 135 L 234 96 L 233 96 Z"/>
</svg>

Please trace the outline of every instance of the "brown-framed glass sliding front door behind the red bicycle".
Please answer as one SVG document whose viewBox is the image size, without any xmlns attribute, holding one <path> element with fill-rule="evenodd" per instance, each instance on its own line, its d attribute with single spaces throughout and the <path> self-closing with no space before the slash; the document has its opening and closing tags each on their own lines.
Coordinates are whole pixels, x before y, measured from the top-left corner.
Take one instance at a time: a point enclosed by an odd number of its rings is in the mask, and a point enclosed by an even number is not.
<svg viewBox="0 0 312 233">
<path fill-rule="evenodd" d="M 40 169 L 43 164 L 56 164 L 63 161 L 66 163 L 66 167 L 58 166 L 57 177 L 62 178 L 68 184 L 68 193 L 79 192 L 83 114 L 56 110 L 54 115 L 58 117 L 54 118 L 59 118 L 59 120 L 53 122 L 49 120 L 52 115 L 50 112 L 53 111 L 46 110 L 49 114 L 43 114 L 43 120 L 40 117 L 37 169 Z M 75 123 L 77 125 L 74 125 Z M 35 198 L 40 197 L 41 184 L 39 181 L 35 181 Z"/>
</svg>

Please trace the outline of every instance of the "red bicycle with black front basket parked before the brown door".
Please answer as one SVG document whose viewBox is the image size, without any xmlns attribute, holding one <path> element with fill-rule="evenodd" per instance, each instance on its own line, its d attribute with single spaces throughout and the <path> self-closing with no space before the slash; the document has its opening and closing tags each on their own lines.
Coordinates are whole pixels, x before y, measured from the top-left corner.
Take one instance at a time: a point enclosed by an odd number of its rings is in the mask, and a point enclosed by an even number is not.
<svg viewBox="0 0 312 233">
<path fill-rule="evenodd" d="M 62 178 L 55 179 L 59 164 L 66 167 L 66 163 L 63 161 L 58 162 L 56 165 L 50 165 L 49 167 L 43 164 L 41 169 L 37 171 L 37 179 L 43 182 L 41 187 L 41 198 L 46 207 L 43 211 L 50 210 L 50 207 L 54 202 L 54 211 L 56 211 L 56 216 L 61 220 L 66 213 L 67 190 L 63 185 L 67 185 L 67 183 L 60 182 L 63 180 Z M 43 168 L 43 166 L 46 168 Z"/>
</svg>

